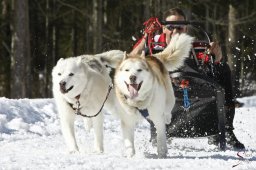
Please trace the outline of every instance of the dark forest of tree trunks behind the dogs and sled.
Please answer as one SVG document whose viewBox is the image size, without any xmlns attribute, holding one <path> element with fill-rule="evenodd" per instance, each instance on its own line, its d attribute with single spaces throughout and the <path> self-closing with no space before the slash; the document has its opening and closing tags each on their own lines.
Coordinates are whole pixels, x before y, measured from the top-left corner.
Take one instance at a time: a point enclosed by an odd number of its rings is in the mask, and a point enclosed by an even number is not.
<svg viewBox="0 0 256 170">
<path fill-rule="evenodd" d="M 237 97 L 256 95 L 254 0 L 1 0 L 0 96 L 50 98 L 59 58 L 131 51 L 143 22 L 180 7 L 224 51 Z"/>
</svg>

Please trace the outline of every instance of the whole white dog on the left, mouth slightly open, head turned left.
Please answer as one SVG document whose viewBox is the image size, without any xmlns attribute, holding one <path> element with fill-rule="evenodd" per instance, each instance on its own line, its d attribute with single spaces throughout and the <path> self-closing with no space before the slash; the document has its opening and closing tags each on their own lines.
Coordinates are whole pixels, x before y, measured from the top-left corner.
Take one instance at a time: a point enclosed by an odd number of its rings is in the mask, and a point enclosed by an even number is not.
<svg viewBox="0 0 256 170">
<path fill-rule="evenodd" d="M 115 92 L 105 65 L 115 67 L 123 58 L 122 51 L 112 50 L 97 55 L 59 59 L 52 71 L 53 95 L 58 108 L 61 130 L 68 151 L 78 152 L 74 121 L 82 116 L 87 129 L 94 129 L 94 147 L 103 152 L 102 108 L 117 112 Z"/>
</svg>

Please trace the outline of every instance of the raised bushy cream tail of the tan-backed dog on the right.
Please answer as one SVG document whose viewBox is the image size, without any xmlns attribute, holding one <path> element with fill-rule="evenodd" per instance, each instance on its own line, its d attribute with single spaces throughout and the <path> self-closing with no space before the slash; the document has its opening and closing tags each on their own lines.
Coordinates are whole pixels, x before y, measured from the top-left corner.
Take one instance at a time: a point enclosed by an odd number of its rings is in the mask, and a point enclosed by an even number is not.
<svg viewBox="0 0 256 170">
<path fill-rule="evenodd" d="M 163 62 L 168 71 L 174 71 L 181 67 L 185 58 L 189 56 L 193 39 L 185 33 L 176 34 L 164 51 L 154 54 L 154 56 Z"/>
</svg>

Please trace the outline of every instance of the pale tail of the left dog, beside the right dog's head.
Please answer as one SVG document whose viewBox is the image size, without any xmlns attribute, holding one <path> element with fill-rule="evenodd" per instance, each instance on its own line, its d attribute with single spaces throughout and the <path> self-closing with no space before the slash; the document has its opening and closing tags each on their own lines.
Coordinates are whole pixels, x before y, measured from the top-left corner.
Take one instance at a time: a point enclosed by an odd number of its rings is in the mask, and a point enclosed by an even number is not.
<svg viewBox="0 0 256 170">
<path fill-rule="evenodd" d="M 104 53 L 96 54 L 96 57 L 99 57 L 101 62 L 106 66 L 116 68 L 117 65 L 122 61 L 124 57 L 124 52 L 120 50 L 110 50 Z"/>
</svg>

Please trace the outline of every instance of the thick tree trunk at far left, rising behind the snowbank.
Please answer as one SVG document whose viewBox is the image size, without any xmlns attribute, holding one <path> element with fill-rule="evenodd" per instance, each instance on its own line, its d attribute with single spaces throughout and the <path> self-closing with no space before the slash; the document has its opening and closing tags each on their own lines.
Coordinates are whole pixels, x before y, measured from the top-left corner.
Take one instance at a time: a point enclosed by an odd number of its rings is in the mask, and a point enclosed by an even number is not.
<svg viewBox="0 0 256 170">
<path fill-rule="evenodd" d="M 11 97 L 31 96 L 28 0 L 13 0 Z"/>
</svg>

